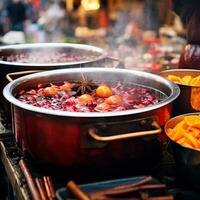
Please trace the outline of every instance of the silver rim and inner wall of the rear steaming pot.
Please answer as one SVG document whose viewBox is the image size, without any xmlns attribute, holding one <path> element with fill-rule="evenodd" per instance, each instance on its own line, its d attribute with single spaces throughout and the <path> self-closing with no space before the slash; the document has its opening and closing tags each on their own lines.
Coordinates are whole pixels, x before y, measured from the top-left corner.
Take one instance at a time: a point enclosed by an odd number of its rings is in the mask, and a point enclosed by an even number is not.
<svg viewBox="0 0 200 200">
<path fill-rule="evenodd" d="M 79 59 L 75 61 L 67 61 L 67 62 L 43 62 L 34 60 L 32 62 L 18 62 L 18 61 L 7 61 L 6 58 L 8 56 L 15 56 L 19 54 L 30 54 L 30 53 L 41 53 L 42 55 L 49 53 L 67 53 L 74 55 L 83 55 Z M 99 61 L 106 57 L 106 52 L 95 46 L 85 45 L 85 44 L 73 44 L 73 43 L 35 43 L 35 44 L 18 44 L 18 45 L 8 45 L 0 48 L 0 58 L 4 58 L 5 60 L 0 59 L 0 65 L 7 65 L 10 67 L 18 66 L 32 66 L 35 68 L 40 67 L 40 69 L 49 69 L 49 68 L 63 68 L 63 67 L 74 67 L 75 65 L 83 65 L 89 64 L 92 62 Z M 38 58 L 40 59 L 40 58 Z M 42 58 L 41 58 L 42 60 Z"/>
</svg>

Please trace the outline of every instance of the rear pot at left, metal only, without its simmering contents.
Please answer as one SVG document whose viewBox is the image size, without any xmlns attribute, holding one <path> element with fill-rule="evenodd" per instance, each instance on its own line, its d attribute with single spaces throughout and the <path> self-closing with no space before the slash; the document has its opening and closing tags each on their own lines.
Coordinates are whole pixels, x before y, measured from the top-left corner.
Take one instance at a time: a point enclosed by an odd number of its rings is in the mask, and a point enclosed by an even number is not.
<svg viewBox="0 0 200 200">
<path fill-rule="evenodd" d="M 30 62 L 11 62 L 4 61 L 1 58 L 14 56 L 18 54 L 26 54 L 26 53 L 46 53 L 48 55 L 49 52 L 60 52 L 67 53 L 73 52 L 75 55 L 85 55 L 80 58 L 80 60 L 76 60 L 73 62 L 65 62 L 65 63 L 39 63 Z M 87 57 L 87 59 L 86 59 Z M 18 45 L 8 45 L 0 47 L 0 91 L 3 90 L 4 86 L 8 83 L 5 78 L 7 74 L 15 75 L 16 77 L 21 76 L 22 71 L 32 71 L 32 70 L 52 70 L 52 69 L 62 69 L 62 68 L 73 68 L 73 67 L 91 67 L 93 65 L 98 65 L 103 62 L 105 59 L 112 59 L 107 56 L 106 52 L 98 47 L 84 45 L 84 44 L 68 44 L 68 43 L 37 43 L 37 44 L 18 44 Z M 17 73 L 15 73 L 17 72 Z M 19 73 L 20 72 L 20 73 Z M 4 100 L 2 93 L 0 94 L 1 106 L 0 108 L 4 110 L 4 113 L 9 115 L 10 109 L 7 105 L 7 102 Z M 10 116 L 8 116 L 8 119 Z"/>
</svg>

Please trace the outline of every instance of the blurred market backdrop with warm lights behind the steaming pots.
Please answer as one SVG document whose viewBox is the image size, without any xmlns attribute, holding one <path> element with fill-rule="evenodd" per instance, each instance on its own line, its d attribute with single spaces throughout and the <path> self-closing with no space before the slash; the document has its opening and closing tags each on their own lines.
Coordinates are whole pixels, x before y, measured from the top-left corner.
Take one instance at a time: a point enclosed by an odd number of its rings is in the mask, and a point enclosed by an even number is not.
<svg viewBox="0 0 200 200">
<path fill-rule="evenodd" d="M 86 43 L 158 71 L 176 67 L 185 29 L 170 0 L 1 0 L 0 42 Z"/>
</svg>

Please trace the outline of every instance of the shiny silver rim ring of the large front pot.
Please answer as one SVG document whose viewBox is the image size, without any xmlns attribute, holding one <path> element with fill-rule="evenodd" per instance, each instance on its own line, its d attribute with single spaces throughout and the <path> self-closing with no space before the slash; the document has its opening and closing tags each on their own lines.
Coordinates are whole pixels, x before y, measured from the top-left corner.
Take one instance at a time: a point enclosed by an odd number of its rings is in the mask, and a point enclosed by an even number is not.
<svg viewBox="0 0 200 200">
<path fill-rule="evenodd" d="M 145 77 L 151 77 L 152 79 L 155 79 L 159 82 L 164 82 L 166 85 L 168 85 L 172 91 L 171 95 L 168 96 L 166 99 L 164 99 L 163 101 L 151 105 L 151 106 L 147 106 L 144 108 L 138 108 L 138 109 L 131 109 L 131 110 L 125 110 L 125 111 L 115 111 L 115 112 L 67 112 L 67 111 L 60 111 L 60 110 L 49 110 L 49 109 L 45 109 L 45 108 L 39 108 L 36 106 L 32 106 L 26 103 L 23 103 L 21 101 L 19 101 L 18 99 L 16 99 L 13 95 L 12 95 L 12 90 L 17 86 L 20 85 L 20 82 L 25 82 L 28 79 L 34 79 L 37 77 L 47 77 L 49 75 L 59 75 L 59 74 L 63 74 L 63 73 L 74 73 L 74 72 L 78 72 L 80 73 L 80 70 L 84 70 L 84 72 L 117 72 L 117 73 L 131 73 L 131 74 L 137 74 L 137 75 L 143 75 Z M 12 104 L 14 104 L 15 106 L 18 106 L 20 108 L 26 109 L 28 111 L 32 111 L 32 112 L 37 112 L 37 113 L 42 113 L 42 114 L 47 114 L 47 115 L 54 115 L 54 116 L 65 116 L 65 117 L 85 117 L 85 118 L 89 118 L 89 117 L 116 117 L 116 116 L 123 116 L 123 115 L 133 115 L 133 114 L 140 114 L 143 112 L 148 112 L 148 111 L 152 111 L 152 110 L 156 110 L 158 108 L 161 108 L 165 105 L 168 105 L 169 103 L 171 103 L 173 100 L 175 100 L 178 95 L 180 94 L 180 89 L 179 87 L 172 83 L 171 81 L 156 75 L 156 74 L 152 74 L 152 73 L 148 73 L 148 72 L 143 72 L 143 71 L 137 71 L 137 70 L 129 70 L 129 69 L 113 69 L 113 68 L 68 68 L 68 69 L 58 69 L 58 70 L 49 70 L 49 71 L 45 71 L 45 72 L 39 72 L 39 73 L 35 73 L 35 74 L 31 74 L 31 75 L 26 75 L 23 76 L 21 78 L 18 78 L 14 81 L 12 81 L 11 83 L 7 84 L 4 89 L 3 89 L 3 95 L 4 97 Z"/>
</svg>

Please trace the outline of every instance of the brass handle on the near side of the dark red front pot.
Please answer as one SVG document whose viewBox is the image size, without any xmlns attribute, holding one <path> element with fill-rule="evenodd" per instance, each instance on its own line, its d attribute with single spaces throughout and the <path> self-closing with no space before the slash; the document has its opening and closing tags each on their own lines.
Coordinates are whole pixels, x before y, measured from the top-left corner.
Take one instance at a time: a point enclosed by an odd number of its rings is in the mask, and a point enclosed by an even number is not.
<svg viewBox="0 0 200 200">
<path fill-rule="evenodd" d="M 115 141 L 115 140 L 154 135 L 154 134 L 159 134 L 162 132 L 162 129 L 157 122 L 155 121 L 152 122 L 152 125 L 156 128 L 155 130 L 124 133 L 124 134 L 112 135 L 112 136 L 100 136 L 95 132 L 93 128 L 90 128 L 88 131 L 88 134 L 97 141 L 109 142 L 109 141 Z"/>
</svg>

